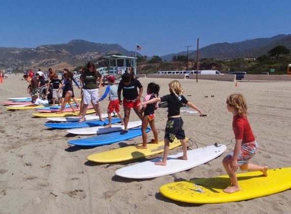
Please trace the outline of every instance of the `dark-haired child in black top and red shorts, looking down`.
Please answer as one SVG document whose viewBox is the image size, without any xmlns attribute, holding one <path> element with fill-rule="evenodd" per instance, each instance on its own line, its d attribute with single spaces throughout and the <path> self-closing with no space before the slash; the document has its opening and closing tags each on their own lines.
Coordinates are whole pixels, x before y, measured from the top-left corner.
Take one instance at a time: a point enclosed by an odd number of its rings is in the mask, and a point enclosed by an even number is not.
<svg viewBox="0 0 291 214">
<path fill-rule="evenodd" d="M 139 92 L 138 92 L 139 88 Z M 121 100 L 121 91 L 123 100 Z M 121 81 L 118 85 L 118 99 L 119 104 L 123 105 L 124 110 L 124 130 L 120 132 L 120 134 L 126 134 L 127 131 L 127 124 L 130 121 L 130 114 L 131 108 L 134 109 L 137 116 L 142 120 L 143 117 L 139 114 L 140 113 L 140 106 L 139 102 L 141 100 L 141 95 L 143 93 L 143 86 L 135 79 L 131 74 L 124 73 L 121 76 Z"/>
</svg>

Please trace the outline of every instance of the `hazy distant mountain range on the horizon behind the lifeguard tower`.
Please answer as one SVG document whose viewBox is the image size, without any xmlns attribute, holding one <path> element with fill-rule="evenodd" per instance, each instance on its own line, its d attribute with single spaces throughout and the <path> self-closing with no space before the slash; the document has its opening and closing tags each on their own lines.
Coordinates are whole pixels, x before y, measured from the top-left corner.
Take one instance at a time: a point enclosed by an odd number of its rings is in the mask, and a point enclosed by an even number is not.
<svg viewBox="0 0 291 214">
<path fill-rule="evenodd" d="M 236 43 L 216 43 L 199 49 L 199 58 L 235 59 L 255 58 L 267 54 L 269 50 L 284 45 L 291 49 L 291 34 L 279 34 L 271 38 L 258 38 Z M 51 66 L 60 62 L 81 65 L 88 60 L 98 61 L 99 57 L 120 53 L 135 56 L 118 44 L 92 43 L 84 40 L 72 40 L 67 44 L 42 45 L 36 48 L 0 47 L 0 67 L 8 66 Z M 138 56 L 141 56 L 137 53 Z M 160 56 L 171 61 L 176 55 L 187 55 L 186 51 Z M 197 50 L 188 52 L 189 59 L 197 58 Z M 148 57 L 149 58 L 149 57 Z"/>
</svg>

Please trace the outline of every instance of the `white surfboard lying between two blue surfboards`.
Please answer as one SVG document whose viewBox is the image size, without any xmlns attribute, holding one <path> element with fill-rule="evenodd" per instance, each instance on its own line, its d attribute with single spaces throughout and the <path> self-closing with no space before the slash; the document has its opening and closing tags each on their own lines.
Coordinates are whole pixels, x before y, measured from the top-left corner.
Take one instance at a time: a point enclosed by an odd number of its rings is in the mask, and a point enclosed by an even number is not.
<svg viewBox="0 0 291 214">
<path fill-rule="evenodd" d="M 142 125 L 142 121 L 133 121 L 128 122 L 127 128 L 132 129 Z M 79 134 L 79 135 L 88 135 L 88 134 L 106 134 L 116 131 L 122 131 L 124 129 L 124 125 L 116 125 L 112 124 L 111 128 L 105 128 L 104 126 L 95 126 L 90 128 L 79 128 L 79 129 L 71 129 L 67 132 L 71 134 Z"/>
</svg>

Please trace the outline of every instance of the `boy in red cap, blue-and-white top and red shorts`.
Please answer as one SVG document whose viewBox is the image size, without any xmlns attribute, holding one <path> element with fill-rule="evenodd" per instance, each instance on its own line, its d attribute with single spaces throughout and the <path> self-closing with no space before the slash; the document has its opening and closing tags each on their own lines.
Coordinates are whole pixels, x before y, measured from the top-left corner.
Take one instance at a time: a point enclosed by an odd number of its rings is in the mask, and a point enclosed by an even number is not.
<svg viewBox="0 0 291 214">
<path fill-rule="evenodd" d="M 108 105 L 108 110 L 107 110 L 107 114 L 108 114 L 108 121 L 109 124 L 107 126 L 104 126 L 105 128 L 110 128 L 112 126 L 111 121 L 112 121 L 112 117 L 111 117 L 111 113 L 115 110 L 115 112 L 117 113 L 118 117 L 121 120 L 121 125 L 124 125 L 123 119 L 122 119 L 122 115 L 120 113 L 119 110 L 119 100 L 118 100 L 118 95 L 117 95 L 117 86 L 114 84 L 115 83 L 115 77 L 114 76 L 109 76 L 107 77 L 107 82 L 108 82 L 108 86 L 105 90 L 105 93 L 102 95 L 102 97 L 99 99 L 99 102 L 101 100 L 104 100 L 105 97 L 107 96 L 107 94 L 109 93 L 109 105 Z"/>
</svg>

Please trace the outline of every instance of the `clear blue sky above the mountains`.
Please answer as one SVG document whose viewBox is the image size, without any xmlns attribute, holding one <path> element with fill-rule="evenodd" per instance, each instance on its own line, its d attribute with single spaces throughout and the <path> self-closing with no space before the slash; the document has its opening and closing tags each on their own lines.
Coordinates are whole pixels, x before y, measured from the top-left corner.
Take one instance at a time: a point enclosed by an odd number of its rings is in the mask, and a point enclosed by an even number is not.
<svg viewBox="0 0 291 214">
<path fill-rule="evenodd" d="M 147 56 L 291 34 L 287 0 L 3 1 L 0 47 L 35 48 L 82 39 Z"/>
</svg>

